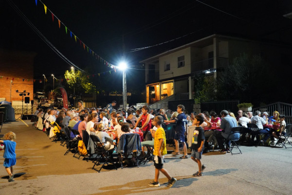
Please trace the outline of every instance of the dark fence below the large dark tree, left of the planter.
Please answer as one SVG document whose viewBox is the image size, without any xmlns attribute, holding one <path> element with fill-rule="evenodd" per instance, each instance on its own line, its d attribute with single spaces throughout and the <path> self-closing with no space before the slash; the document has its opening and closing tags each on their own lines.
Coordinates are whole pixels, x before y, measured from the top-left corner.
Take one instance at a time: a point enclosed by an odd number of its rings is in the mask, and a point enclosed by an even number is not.
<svg viewBox="0 0 292 195">
<path fill-rule="evenodd" d="M 220 102 L 202 102 L 201 103 L 201 111 L 207 110 L 210 112 L 211 110 L 215 111 L 217 114 L 220 114 L 222 110 L 230 110 L 233 113 L 237 113 L 239 104 L 239 100 L 231 100 L 231 101 L 220 101 Z"/>
</svg>

